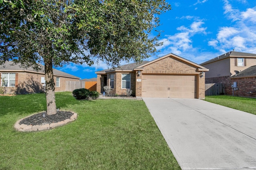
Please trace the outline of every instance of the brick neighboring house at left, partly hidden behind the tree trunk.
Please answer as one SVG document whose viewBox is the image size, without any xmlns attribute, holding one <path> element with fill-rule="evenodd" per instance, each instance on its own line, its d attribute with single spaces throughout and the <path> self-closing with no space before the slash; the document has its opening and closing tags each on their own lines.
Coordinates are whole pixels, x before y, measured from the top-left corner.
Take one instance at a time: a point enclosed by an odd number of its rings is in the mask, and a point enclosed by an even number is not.
<svg viewBox="0 0 256 170">
<path fill-rule="evenodd" d="M 6 86 L 8 94 L 27 94 L 44 92 L 44 70 L 34 71 L 32 68 L 21 68 L 6 61 L 0 65 L 0 86 Z M 43 68 L 43 66 L 42 66 Z M 78 81 L 79 77 L 53 69 L 55 91 L 66 91 L 66 81 Z"/>
</svg>

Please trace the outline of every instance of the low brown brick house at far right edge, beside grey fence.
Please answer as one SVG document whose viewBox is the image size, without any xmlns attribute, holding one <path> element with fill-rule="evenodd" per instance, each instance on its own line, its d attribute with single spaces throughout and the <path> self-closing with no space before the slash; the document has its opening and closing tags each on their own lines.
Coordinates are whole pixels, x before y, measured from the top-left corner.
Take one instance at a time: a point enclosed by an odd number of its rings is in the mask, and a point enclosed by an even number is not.
<svg viewBox="0 0 256 170">
<path fill-rule="evenodd" d="M 231 84 L 236 82 L 234 96 L 256 97 L 256 66 L 250 66 L 245 70 L 230 77 Z"/>
</svg>

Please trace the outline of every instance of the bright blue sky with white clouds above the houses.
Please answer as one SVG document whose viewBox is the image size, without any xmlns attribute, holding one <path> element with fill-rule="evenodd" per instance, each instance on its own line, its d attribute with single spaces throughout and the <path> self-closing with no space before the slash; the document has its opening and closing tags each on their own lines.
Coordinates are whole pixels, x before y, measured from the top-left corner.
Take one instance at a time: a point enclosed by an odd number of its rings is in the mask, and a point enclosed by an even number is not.
<svg viewBox="0 0 256 170">
<path fill-rule="evenodd" d="M 152 61 L 169 53 L 200 64 L 228 51 L 256 53 L 255 0 L 167 0 L 172 10 L 160 16 L 163 31 L 160 52 Z M 130 63 L 133 63 L 132 61 Z M 126 64 L 121 62 L 121 64 Z M 107 69 L 104 62 L 68 64 L 62 70 L 80 78 L 94 78 Z"/>
</svg>

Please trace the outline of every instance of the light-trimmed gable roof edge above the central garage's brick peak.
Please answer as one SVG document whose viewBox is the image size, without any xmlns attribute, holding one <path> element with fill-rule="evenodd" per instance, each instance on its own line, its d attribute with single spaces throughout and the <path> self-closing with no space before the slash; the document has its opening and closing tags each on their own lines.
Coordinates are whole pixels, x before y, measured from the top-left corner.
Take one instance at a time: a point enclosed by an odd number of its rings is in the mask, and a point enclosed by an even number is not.
<svg viewBox="0 0 256 170">
<path fill-rule="evenodd" d="M 175 55 L 175 54 L 173 54 L 173 53 L 170 53 L 170 54 L 168 54 L 168 55 L 165 55 L 165 56 L 163 56 L 163 57 L 160 57 L 160 58 L 155 59 L 155 60 L 153 60 L 153 61 L 150 61 L 150 62 L 148 62 L 148 63 L 142 64 L 142 65 L 140 65 L 140 66 L 134 68 L 134 70 L 138 70 L 139 68 L 143 68 L 144 66 L 147 66 L 147 65 L 149 65 L 149 64 L 155 63 L 155 62 L 157 62 L 157 61 L 159 61 L 159 60 L 162 60 L 162 59 L 164 59 L 164 58 L 166 58 L 166 57 L 174 57 L 174 58 L 176 58 L 176 59 L 179 59 L 179 60 L 181 60 L 181 61 L 184 61 L 185 63 L 191 64 L 191 65 L 197 67 L 199 71 L 209 71 L 208 68 L 205 68 L 205 67 L 203 67 L 203 66 L 201 66 L 201 65 L 199 65 L 199 64 L 196 64 L 196 63 L 194 63 L 194 62 L 192 62 L 192 61 L 189 61 L 189 60 L 187 60 L 187 59 L 184 59 L 184 58 L 182 58 L 182 57 L 180 57 L 180 56 L 178 56 L 178 55 Z"/>
</svg>

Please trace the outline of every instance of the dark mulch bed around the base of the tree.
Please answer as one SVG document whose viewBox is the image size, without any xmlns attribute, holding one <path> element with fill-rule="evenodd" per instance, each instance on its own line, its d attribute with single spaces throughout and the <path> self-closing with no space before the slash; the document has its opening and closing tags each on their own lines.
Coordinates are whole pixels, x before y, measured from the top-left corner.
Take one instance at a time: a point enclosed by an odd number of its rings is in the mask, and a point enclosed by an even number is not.
<svg viewBox="0 0 256 170">
<path fill-rule="evenodd" d="M 44 125 L 44 124 L 50 124 L 50 123 L 57 123 L 60 121 L 64 121 L 66 119 L 70 119 L 70 117 L 73 115 L 74 113 L 70 112 L 70 111 L 58 111 L 56 114 L 54 115 L 47 115 L 46 111 L 45 112 L 41 112 L 41 113 L 37 113 L 34 114 L 30 117 L 27 117 L 25 119 L 23 119 L 22 121 L 20 121 L 20 125 L 21 124 L 25 124 L 25 125 Z"/>
</svg>

